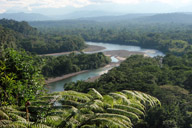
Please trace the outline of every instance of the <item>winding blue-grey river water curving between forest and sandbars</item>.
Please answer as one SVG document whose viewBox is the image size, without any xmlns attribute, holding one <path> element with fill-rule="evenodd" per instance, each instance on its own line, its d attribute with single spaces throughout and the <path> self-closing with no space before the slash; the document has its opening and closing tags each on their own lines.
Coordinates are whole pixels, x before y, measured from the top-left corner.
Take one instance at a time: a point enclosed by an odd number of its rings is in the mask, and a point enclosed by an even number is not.
<svg viewBox="0 0 192 128">
<path fill-rule="evenodd" d="M 118 45 L 118 44 L 109 44 L 109 43 L 95 43 L 95 42 L 86 42 L 86 43 L 89 45 L 97 45 L 97 46 L 102 46 L 102 47 L 106 48 L 104 50 L 97 51 L 97 52 L 104 52 L 104 51 L 111 51 L 111 50 L 127 50 L 127 51 L 131 51 L 131 52 L 143 52 L 150 57 L 164 56 L 164 54 L 158 50 L 143 49 L 139 46 Z M 93 52 L 87 52 L 87 53 L 93 53 Z M 114 63 L 118 62 L 118 59 L 115 58 L 115 56 L 112 56 L 111 60 Z M 78 74 L 76 76 L 73 76 L 73 77 L 70 77 L 70 78 L 67 78 L 67 79 L 64 79 L 61 81 L 50 83 L 47 86 L 47 88 L 50 93 L 55 92 L 55 91 L 63 91 L 64 90 L 63 85 L 65 83 L 76 82 L 78 80 L 87 80 L 91 77 L 100 76 L 104 73 L 107 73 L 110 69 L 112 69 L 115 66 L 116 65 L 109 66 L 109 67 L 103 67 L 103 68 L 99 68 L 99 69 L 95 69 L 95 70 L 90 70 L 88 72 L 84 72 L 82 74 Z"/>
</svg>

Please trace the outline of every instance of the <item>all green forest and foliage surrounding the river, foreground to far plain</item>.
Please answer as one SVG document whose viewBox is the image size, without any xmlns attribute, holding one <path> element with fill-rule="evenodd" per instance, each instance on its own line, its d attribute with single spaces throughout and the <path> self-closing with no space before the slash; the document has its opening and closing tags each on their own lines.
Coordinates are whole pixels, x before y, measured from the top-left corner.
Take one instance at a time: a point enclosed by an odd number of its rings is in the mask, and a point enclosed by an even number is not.
<svg viewBox="0 0 192 128">
<path fill-rule="evenodd" d="M 0 127 L 192 127 L 190 25 L 82 22 L 37 30 L 26 22 L 0 21 Z M 65 91 L 46 94 L 44 77 L 95 69 L 109 58 L 103 53 L 41 57 L 31 52 L 81 50 L 83 38 L 169 54 L 134 55 L 95 82 L 67 83 Z"/>
</svg>

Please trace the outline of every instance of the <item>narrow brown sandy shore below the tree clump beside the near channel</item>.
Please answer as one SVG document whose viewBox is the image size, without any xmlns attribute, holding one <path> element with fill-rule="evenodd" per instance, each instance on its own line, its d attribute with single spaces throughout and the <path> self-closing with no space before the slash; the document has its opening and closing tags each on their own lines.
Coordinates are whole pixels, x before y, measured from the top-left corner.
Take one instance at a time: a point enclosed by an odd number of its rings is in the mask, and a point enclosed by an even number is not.
<svg viewBox="0 0 192 128">
<path fill-rule="evenodd" d="M 81 74 L 81 73 L 84 73 L 84 72 L 88 72 L 88 71 L 89 70 L 83 70 L 83 71 L 74 72 L 74 73 L 66 74 L 66 75 L 59 76 L 59 77 L 48 78 L 48 80 L 45 80 L 45 83 L 46 84 L 53 83 L 53 82 L 60 81 L 60 80 L 63 80 L 63 79 L 67 79 L 69 77 L 76 76 L 78 74 Z"/>
</svg>

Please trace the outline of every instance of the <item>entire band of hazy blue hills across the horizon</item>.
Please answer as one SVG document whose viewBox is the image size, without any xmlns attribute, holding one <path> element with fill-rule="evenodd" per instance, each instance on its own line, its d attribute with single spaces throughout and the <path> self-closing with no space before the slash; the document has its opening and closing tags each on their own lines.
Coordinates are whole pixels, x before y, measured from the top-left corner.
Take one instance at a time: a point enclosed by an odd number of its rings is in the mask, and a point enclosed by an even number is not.
<svg viewBox="0 0 192 128">
<path fill-rule="evenodd" d="M 95 21 L 95 22 L 138 22 L 138 23 L 192 23 L 192 13 L 132 13 L 120 15 L 118 13 L 109 13 L 102 11 L 80 11 L 58 16 L 45 16 L 38 13 L 4 13 L 0 14 L 0 19 L 13 19 L 17 21 L 51 21 L 51 24 L 58 22 L 69 22 L 69 19 Z M 43 22 L 41 22 L 43 23 Z"/>
</svg>

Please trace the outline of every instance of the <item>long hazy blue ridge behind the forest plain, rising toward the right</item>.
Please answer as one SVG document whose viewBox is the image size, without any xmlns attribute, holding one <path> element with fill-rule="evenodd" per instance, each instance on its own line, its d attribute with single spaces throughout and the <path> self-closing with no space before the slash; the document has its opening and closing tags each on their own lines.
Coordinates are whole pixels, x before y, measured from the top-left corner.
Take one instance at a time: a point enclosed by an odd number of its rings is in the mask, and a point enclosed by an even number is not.
<svg viewBox="0 0 192 128">
<path fill-rule="evenodd" d="M 99 17 L 83 17 L 73 20 L 55 20 L 55 21 L 36 21 L 30 22 L 34 27 L 79 27 L 91 26 L 93 24 L 108 25 L 115 24 L 150 24 L 150 23 L 176 23 L 176 24 L 192 24 L 192 13 L 164 13 L 164 14 L 127 14 L 120 16 L 99 16 Z"/>
</svg>

